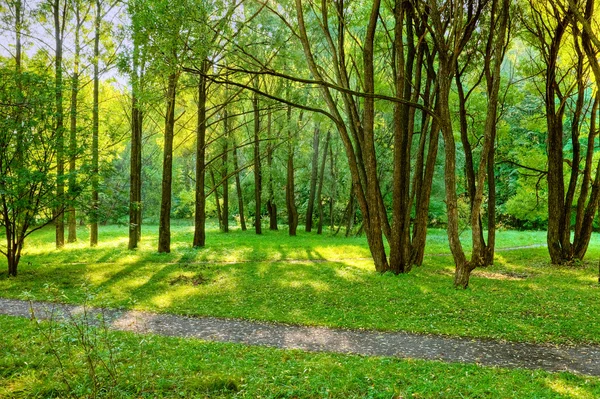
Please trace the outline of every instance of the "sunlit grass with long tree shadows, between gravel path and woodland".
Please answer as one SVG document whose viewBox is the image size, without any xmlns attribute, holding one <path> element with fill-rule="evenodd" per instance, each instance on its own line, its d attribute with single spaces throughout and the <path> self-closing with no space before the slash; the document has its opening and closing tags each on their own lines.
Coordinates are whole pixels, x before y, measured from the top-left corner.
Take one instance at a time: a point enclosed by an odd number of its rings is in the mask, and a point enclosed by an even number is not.
<svg viewBox="0 0 600 399">
<path fill-rule="evenodd" d="M 53 230 L 28 242 L 19 276 L 0 274 L 0 295 L 45 286 L 81 303 L 186 315 L 210 315 L 304 325 L 495 338 L 554 344 L 600 344 L 598 235 L 588 259 L 549 265 L 545 248 L 500 251 L 495 266 L 476 270 L 466 291 L 452 287 L 450 256 L 426 256 L 406 275 L 374 272 L 364 238 L 265 231 L 263 236 L 212 229 L 207 247 L 191 248 L 193 230 L 172 229 L 172 252 L 156 253 L 157 228 L 145 227 L 142 246 L 127 250 L 127 229 L 101 229 L 100 245 L 80 242 L 56 250 Z M 468 248 L 468 233 L 463 235 Z M 432 230 L 427 253 L 446 254 L 445 233 Z M 498 233 L 498 247 L 543 244 L 544 232 Z M 0 270 L 6 270 L 0 263 Z"/>
</svg>

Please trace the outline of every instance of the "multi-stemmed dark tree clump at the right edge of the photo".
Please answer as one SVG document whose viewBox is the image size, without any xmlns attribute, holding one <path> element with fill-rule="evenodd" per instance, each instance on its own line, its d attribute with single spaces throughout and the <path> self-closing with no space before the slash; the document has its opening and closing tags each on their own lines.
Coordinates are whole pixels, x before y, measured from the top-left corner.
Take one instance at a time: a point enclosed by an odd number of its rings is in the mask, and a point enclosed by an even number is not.
<svg viewBox="0 0 600 399">
<path fill-rule="evenodd" d="M 564 264 L 585 256 L 600 199 L 598 168 L 592 183 L 598 100 L 587 95 L 589 69 L 596 79 L 600 77 L 597 61 L 600 47 L 591 29 L 593 1 L 581 5 L 569 1 L 531 3 L 531 11 L 526 26 L 532 44 L 542 58 L 541 68 L 544 71 L 548 137 L 548 252 L 552 263 Z M 575 56 L 565 57 L 569 53 Z M 586 57 L 588 65 L 584 63 Z M 593 101 L 592 106 L 585 106 L 589 101 Z M 586 112 L 586 109 L 589 111 Z M 570 127 L 570 137 L 565 132 L 567 126 Z M 580 143 L 584 129 L 588 130 L 585 153 Z M 570 150 L 568 147 L 571 147 Z M 570 159 L 567 158 L 569 155 Z M 568 168 L 565 168 L 565 163 Z M 572 227 L 575 230 L 573 241 Z"/>
</svg>

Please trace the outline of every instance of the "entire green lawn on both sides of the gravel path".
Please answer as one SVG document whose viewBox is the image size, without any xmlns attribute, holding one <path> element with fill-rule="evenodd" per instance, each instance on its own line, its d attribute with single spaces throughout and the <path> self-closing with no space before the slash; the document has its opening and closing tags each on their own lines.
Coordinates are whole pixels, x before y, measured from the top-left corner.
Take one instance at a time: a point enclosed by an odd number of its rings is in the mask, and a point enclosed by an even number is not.
<svg viewBox="0 0 600 399">
<path fill-rule="evenodd" d="M 590 260 L 572 267 L 549 265 L 543 247 L 500 250 L 495 266 L 475 271 L 463 291 L 452 287 L 453 265 L 441 230 L 429 234 L 424 265 L 400 276 L 375 273 L 364 238 L 303 232 L 288 237 L 285 231 L 258 237 L 211 229 L 207 247 L 193 249 L 192 227 L 181 223 L 173 228 L 172 252 L 158 254 L 155 226 L 145 227 L 136 251 L 127 250 L 124 227 L 103 227 L 96 248 L 87 246 L 85 229 L 79 233 L 78 243 L 61 250 L 54 248 L 52 229 L 35 234 L 17 278 L 8 278 L 0 262 L 0 296 L 343 328 L 600 343 L 597 235 Z M 498 235 L 500 249 L 544 242 L 543 232 Z M 0 397 L 600 397 L 600 379 L 568 373 L 117 332 L 96 337 L 90 355 L 72 326 L 0 317 L 0 332 Z M 97 365 L 90 373 L 86 359 L 112 364 L 112 371 Z"/>
</svg>

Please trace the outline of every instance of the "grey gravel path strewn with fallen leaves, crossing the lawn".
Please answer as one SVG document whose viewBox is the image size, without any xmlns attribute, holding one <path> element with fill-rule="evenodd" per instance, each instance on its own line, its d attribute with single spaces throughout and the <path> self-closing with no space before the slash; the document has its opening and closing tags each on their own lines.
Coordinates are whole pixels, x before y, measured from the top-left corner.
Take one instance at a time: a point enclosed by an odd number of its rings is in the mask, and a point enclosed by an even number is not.
<svg viewBox="0 0 600 399">
<path fill-rule="evenodd" d="M 35 302 L 32 305 L 39 319 L 48 318 L 52 314 L 66 318 L 84 311 L 81 306 L 75 305 L 44 302 Z M 90 315 L 102 312 L 111 328 L 136 333 L 314 352 L 394 356 L 600 376 L 600 346 L 557 347 L 405 332 L 302 327 L 212 317 L 192 318 L 113 309 L 87 309 L 87 312 Z M 0 299 L 0 314 L 31 317 L 30 303 Z"/>
</svg>

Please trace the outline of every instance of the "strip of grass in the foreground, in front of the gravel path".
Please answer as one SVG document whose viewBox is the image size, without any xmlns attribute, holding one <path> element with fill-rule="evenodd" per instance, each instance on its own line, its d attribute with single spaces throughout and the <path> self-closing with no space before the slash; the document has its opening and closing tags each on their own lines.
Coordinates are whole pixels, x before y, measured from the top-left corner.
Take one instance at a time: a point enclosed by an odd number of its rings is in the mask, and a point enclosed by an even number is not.
<svg viewBox="0 0 600 399">
<path fill-rule="evenodd" d="M 47 322 L 0 316 L 0 397 L 91 397 L 76 339 L 40 334 Z M 236 344 L 108 333 L 116 380 L 102 367 L 98 397 L 240 398 L 597 398 L 600 379 L 568 373 L 314 354 Z M 52 345 L 51 345 L 52 344 Z M 52 356 L 65 355 L 61 367 Z M 67 349 L 68 348 L 68 349 Z M 107 358 L 107 354 L 96 353 Z M 65 388 L 69 378 L 71 390 Z"/>
</svg>

